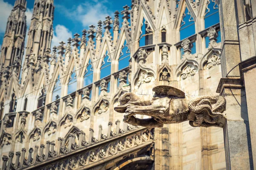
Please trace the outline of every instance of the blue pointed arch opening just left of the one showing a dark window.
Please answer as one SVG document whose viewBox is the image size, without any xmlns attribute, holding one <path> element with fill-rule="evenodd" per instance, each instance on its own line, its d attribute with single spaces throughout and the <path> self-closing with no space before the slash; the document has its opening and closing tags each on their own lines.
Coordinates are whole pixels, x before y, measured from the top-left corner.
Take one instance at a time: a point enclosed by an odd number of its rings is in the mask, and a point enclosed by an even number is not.
<svg viewBox="0 0 256 170">
<path fill-rule="evenodd" d="M 122 70 L 125 67 L 129 66 L 129 59 L 130 59 L 130 50 L 128 48 L 127 42 L 125 40 L 124 44 L 122 45 L 122 51 L 120 53 L 118 59 L 118 70 Z"/>
</svg>

